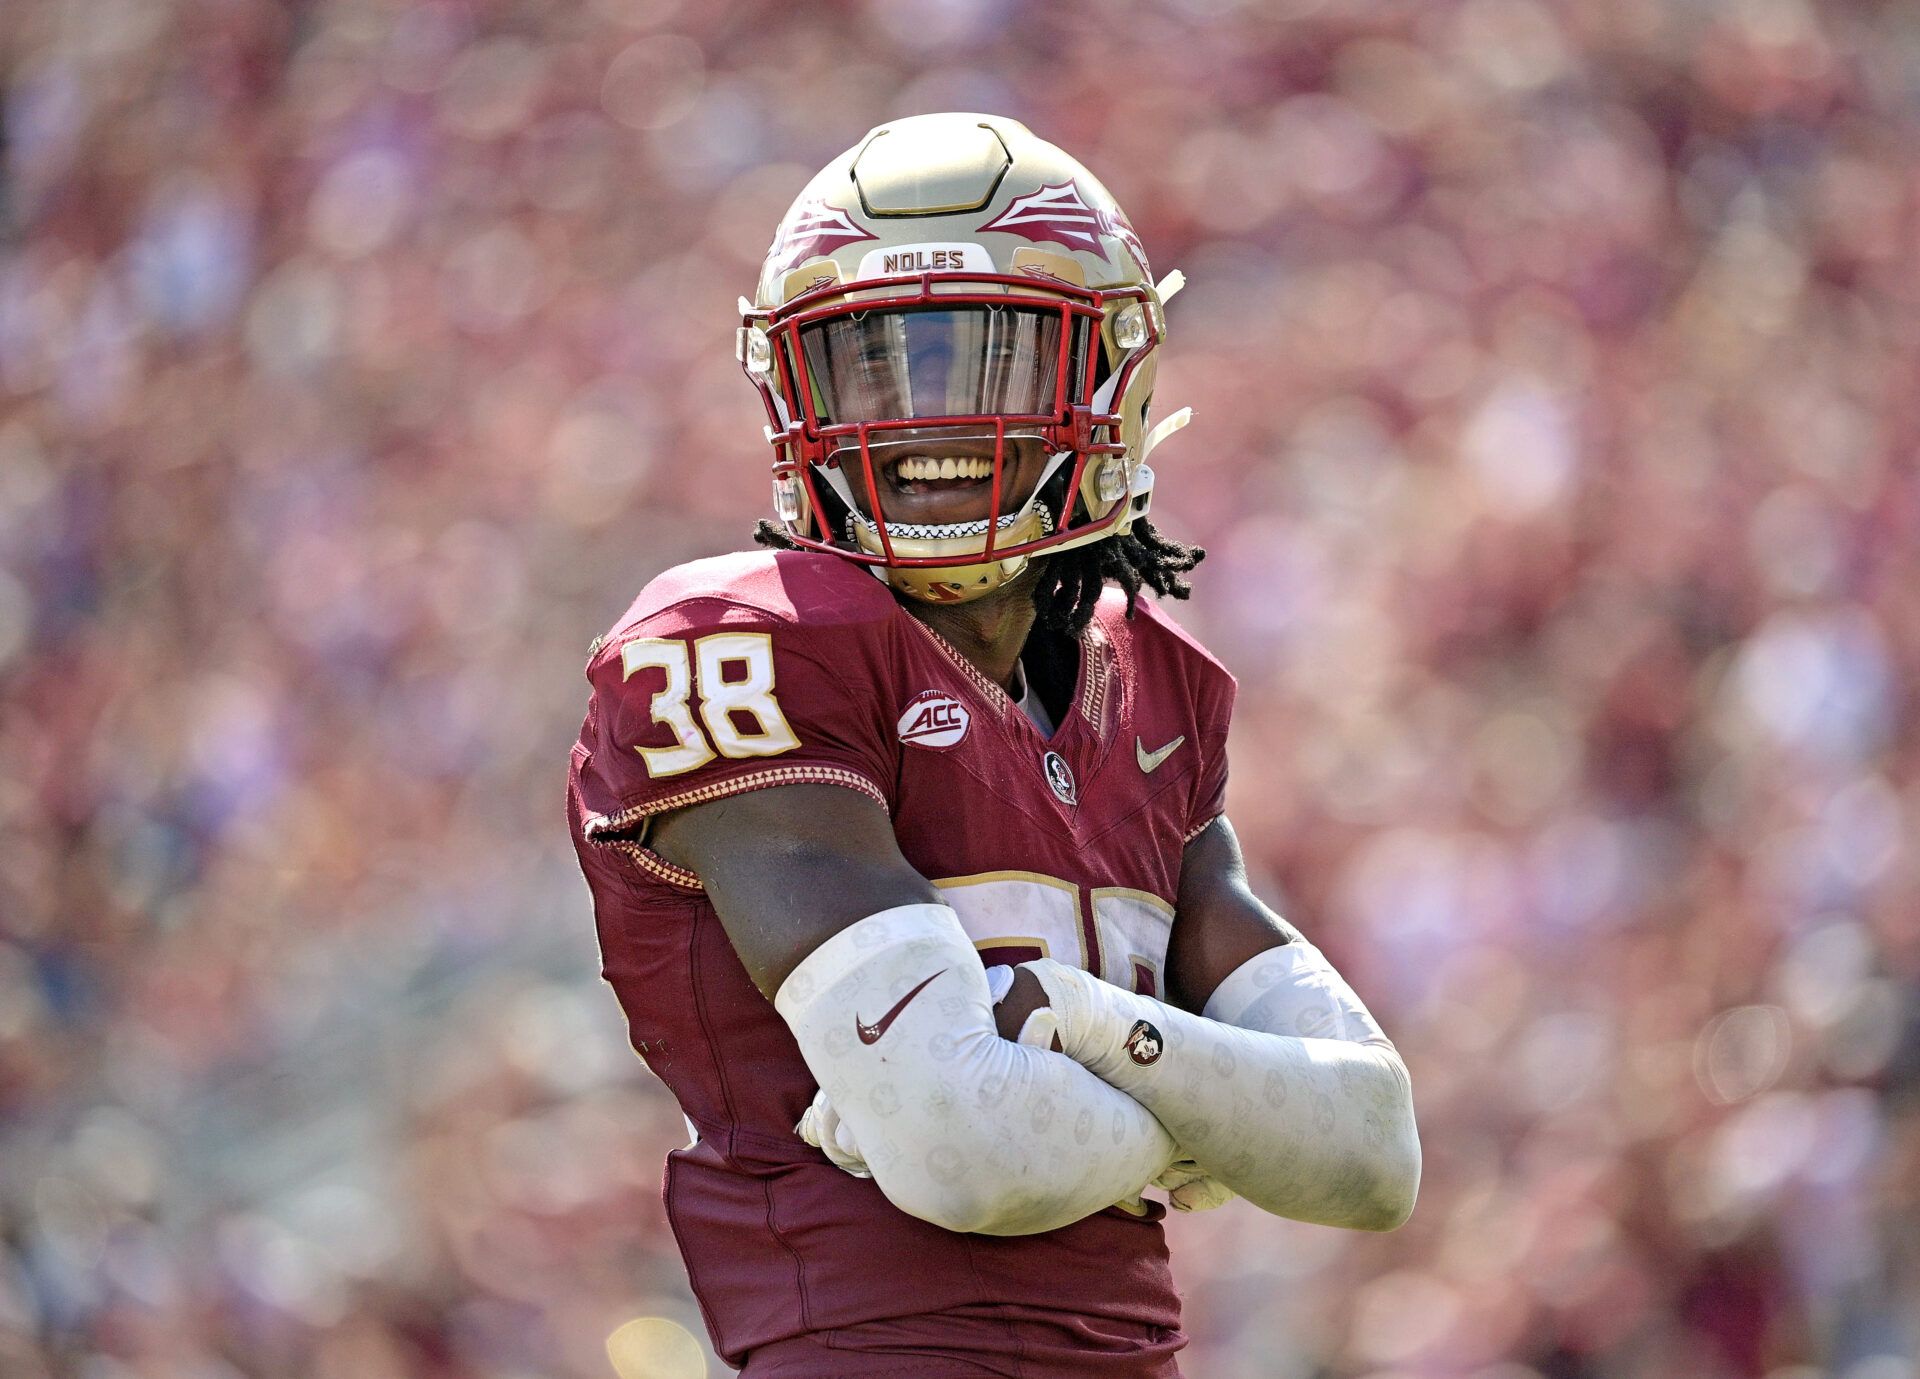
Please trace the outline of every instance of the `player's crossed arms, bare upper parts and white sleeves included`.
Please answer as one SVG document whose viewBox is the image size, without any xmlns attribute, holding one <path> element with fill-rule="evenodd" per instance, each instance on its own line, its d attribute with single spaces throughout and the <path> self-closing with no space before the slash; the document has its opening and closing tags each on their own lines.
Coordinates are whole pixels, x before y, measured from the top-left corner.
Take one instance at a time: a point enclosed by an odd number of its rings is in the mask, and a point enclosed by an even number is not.
<svg viewBox="0 0 1920 1379">
<path fill-rule="evenodd" d="M 1338 993 L 1277 1003 L 1269 989 L 1317 953 L 1252 895 L 1225 820 L 1183 859 L 1169 1004 L 1044 960 L 1023 964 L 995 1004 L 937 887 L 900 857 L 883 810 L 845 789 L 691 807 L 660 818 L 649 843 L 701 876 L 876 1183 L 912 1216 L 998 1235 L 1054 1229 L 1183 1158 L 1298 1220 L 1390 1229 L 1411 1210 L 1405 1066 L 1331 968 L 1346 1016 Z M 860 1026 L 916 981 L 924 995 L 870 1043 Z M 1304 1035 L 1302 1014 L 1327 1004 L 1329 1022 L 1308 1024 L 1332 1037 Z M 1043 1006 L 1037 1024 L 1058 1029 L 1064 1054 L 1016 1041 Z M 1164 1058 L 1133 1056 L 1139 1020 Z"/>
</svg>

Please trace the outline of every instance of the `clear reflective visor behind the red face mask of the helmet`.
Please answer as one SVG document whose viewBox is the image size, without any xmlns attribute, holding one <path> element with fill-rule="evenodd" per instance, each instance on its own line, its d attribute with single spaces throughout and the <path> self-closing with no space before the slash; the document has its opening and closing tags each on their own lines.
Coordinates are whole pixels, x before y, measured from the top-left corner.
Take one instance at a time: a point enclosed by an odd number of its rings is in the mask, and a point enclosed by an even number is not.
<svg viewBox="0 0 1920 1379">
<path fill-rule="evenodd" d="M 1046 307 L 897 307 L 801 328 L 814 419 L 822 424 L 931 417 L 1058 417 L 1062 313 Z M 1066 367 L 1085 376 L 1087 321 Z"/>
</svg>

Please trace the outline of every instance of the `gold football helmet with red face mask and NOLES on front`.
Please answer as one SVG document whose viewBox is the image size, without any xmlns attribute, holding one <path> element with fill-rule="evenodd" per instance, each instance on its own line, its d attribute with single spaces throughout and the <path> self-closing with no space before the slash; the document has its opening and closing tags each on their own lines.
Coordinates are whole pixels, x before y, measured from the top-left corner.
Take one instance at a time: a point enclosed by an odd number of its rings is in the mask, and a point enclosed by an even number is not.
<svg viewBox="0 0 1920 1379">
<path fill-rule="evenodd" d="M 906 595 L 964 603 L 1039 551 L 1125 532 L 1152 497 L 1148 453 L 1190 415 L 1146 434 L 1179 284 L 1154 284 L 1108 190 L 1023 125 L 916 115 L 874 129 L 806 184 L 755 300 L 741 298 L 739 361 L 766 403 L 787 536 Z M 916 457 L 925 438 L 972 453 Z M 1033 444 L 1039 482 L 1008 492 L 1012 449 Z M 885 465 L 991 484 L 987 517 L 889 520 Z"/>
</svg>

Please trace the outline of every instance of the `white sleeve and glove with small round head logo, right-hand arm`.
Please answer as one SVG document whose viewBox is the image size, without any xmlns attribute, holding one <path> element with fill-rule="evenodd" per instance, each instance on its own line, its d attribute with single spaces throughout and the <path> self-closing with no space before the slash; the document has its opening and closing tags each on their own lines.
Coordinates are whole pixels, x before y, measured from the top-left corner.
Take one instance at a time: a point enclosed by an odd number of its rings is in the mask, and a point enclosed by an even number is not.
<svg viewBox="0 0 1920 1379">
<path fill-rule="evenodd" d="M 1311 943 L 1229 974 L 1206 1006 L 1219 1018 L 1050 958 L 1021 966 L 1046 987 L 1066 1054 L 1261 1210 L 1373 1231 L 1413 1210 L 1421 1141 L 1405 1062 Z"/>
</svg>

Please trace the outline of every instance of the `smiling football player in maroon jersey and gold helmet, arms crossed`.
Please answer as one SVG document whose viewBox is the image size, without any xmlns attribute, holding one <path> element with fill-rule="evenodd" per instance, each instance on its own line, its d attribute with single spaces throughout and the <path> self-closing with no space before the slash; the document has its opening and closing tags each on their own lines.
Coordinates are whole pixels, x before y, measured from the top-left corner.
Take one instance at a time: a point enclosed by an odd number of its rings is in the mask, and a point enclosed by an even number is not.
<svg viewBox="0 0 1920 1379">
<path fill-rule="evenodd" d="M 1021 125 L 872 131 L 743 302 L 774 549 L 595 643 L 574 843 L 755 1379 L 1175 1375 L 1144 1187 L 1411 1210 L 1405 1066 L 1248 889 L 1233 678 L 1140 597 L 1200 559 L 1146 519 L 1177 286 Z"/>
</svg>

